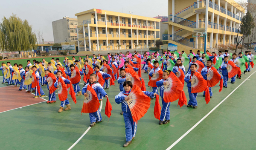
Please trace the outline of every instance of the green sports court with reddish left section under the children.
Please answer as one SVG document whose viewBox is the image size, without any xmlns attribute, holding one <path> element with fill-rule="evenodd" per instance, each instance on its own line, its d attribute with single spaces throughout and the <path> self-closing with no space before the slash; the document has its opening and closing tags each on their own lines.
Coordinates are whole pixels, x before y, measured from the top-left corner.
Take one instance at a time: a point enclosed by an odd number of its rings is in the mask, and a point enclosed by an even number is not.
<svg viewBox="0 0 256 150">
<path fill-rule="evenodd" d="M 84 56 L 83 56 L 84 57 Z M 57 57 L 55 57 L 57 58 Z M 60 58 L 62 63 L 63 58 Z M 71 59 L 71 57 L 68 57 Z M 34 58 L 30 58 L 32 61 Z M 36 58 L 36 60 L 41 58 Z M 78 56 L 76 56 L 78 59 Z M 27 59 L 12 60 L 26 66 Z M 47 62 L 50 58 L 46 58 Z M 7 61 L 1 61 L 7 62 Z M 23 67 L 24 68 L 24 67 Z M 186 67 L 186 70 L 188 67 Z M 143 71 L 144 72 L 144 71 Z M 142 73 L 143 73 L 142 72 Z M 47 104 L 48 97 L 32 98 L 32 93 L 18 92 L 18 88 L 0 84 L 0 149 L 1 150 L 255 150 L 256 69 L 251 69 L 235 84 L 218 92 L 212 87 L 213 97 L 206 104 L 203 93 L 198 93 L 198 108 L 170 106 L 170 123 L 159 125 L 154 118 L 155 99 L 143 118 L 138 121 L 137 133 L 128 147 L 125 143 L 125 123 L 120 115 L 121 104 L 114 98 L 119 84 L 106 89 L 112 105 L 111 117 L 105 115 L 106 99 L 100 105 L 102 122 L 89 127 L 89 114 L 81 114 L 84 96 L 77 96 L 74 104 L 68 99 L 71 110 L 58 113 L 61 101 Z M 147 87 L 148 74 L 142 74 Z M 3 80 L 3 76 L 0 76 Z M 81 81 L 82 88 L 84 81 Z M 47 87 L 42 87 L 48 95 Z M 189 101 L 186 83 L 184 86 Z M 55 92 L 57 93 L 57 91 Z M 160 100 L 161 101 L 161 100 Z M 160 105 L 162 106 L 161 102 Z"/>
</svg>

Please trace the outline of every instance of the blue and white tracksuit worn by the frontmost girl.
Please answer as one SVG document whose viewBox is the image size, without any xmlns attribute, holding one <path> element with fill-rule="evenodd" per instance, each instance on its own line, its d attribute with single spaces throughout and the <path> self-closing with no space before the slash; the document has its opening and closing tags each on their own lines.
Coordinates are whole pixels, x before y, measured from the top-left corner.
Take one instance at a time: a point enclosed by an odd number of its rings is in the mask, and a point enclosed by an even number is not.
<svg viewBox="0 0 256 150">
<path fill-rule="evenodd" d="M 116 97 L 115 97 L 115 101 L 117 104 L 122 103 L 122 111 L 124 112 L 123 116 L 124 116 L 124 120 L 125 120 L 126 141 L 131 141 L 131 139 L 133 137 L 135 137 L 136 131 L 137 131 L 137 123 L 133 121 L 132 115 L 131 115 L 131 110 L 128 107 L 127 102 L 125 101 L 125 97 L 127 97 L 130 92 L 131 91 L 126 93 L 124 90 L 122 92 L 119 92 L 119 94 L 116 95 Z M 154 97 L 153 92 L 148 92 L 148 91 L 143 91 L 143 92 L 145 95 L 150 96 L 151 98 Z"/>
</svg>

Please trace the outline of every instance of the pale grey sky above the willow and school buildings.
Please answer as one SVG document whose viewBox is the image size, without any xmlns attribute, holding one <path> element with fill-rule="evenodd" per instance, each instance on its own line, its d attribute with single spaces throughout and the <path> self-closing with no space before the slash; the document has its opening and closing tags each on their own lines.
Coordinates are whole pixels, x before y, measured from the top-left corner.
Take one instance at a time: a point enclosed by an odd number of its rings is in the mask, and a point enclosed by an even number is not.
<svg viewBox="0 0 256 150">
<path fill-rule="evenodd" d="M 16 14 L 22 20 L 28 20 L 35 33 L 43 32 L 44 41 L 53 41 L 52 21 L 65 16 L 77 18 L 76 13 L 93 8 L 123 13 L 130 11 L 145 17 L 168 15 L 167 0 L 6 0 L 0 5 L 0 22 L 3 17 Z"/>
</svg>

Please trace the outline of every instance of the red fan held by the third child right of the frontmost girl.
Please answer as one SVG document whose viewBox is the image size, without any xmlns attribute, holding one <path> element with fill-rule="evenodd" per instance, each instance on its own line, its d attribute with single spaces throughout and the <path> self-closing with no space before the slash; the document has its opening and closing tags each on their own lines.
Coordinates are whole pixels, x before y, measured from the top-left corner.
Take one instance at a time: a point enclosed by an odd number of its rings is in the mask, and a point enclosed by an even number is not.
<svg viewBox="0 0 256 150">
<path fill-rule="evenodd" d="M 207 85 L 208 87 L 214 87 L 221 80 L 221 75 L 218 73 L 217 69 L 211 67 L 207 75 Z"/>
</svg>

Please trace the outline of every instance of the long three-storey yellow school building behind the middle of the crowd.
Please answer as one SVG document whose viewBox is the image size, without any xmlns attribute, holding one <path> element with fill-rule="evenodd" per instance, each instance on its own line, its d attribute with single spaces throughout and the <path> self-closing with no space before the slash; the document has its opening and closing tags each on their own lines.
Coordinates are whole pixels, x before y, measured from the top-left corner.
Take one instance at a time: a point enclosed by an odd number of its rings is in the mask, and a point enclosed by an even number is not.
<svg viewBox="0 0 256 150">
<path fill-rule="evenodd" d="M 154 47 L 160 39 L 160 19 L 101 9 L 75 14 L 79 51 Z"/>
</svg>

